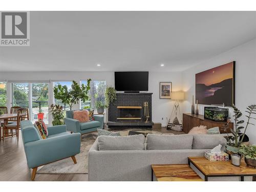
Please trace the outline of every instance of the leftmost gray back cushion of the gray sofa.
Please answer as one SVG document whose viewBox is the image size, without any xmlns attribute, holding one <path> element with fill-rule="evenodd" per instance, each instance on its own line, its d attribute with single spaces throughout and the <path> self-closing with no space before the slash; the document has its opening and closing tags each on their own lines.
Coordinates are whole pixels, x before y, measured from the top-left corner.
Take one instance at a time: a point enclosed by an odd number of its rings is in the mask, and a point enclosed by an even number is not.
<svg viewBox="0 0 256 192">
<path fill-rule="evenodd" d="M 144 139 L 141 135 L 98 137 L 99 151 L 105 150 L 144 150 Z"/>
</svg>

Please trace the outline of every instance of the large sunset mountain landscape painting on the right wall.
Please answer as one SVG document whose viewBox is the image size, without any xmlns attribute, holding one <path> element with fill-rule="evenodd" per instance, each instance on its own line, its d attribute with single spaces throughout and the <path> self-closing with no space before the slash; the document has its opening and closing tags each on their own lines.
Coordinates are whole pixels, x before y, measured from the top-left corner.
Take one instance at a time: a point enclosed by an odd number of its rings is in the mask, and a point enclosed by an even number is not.
<svg viewBox="0 0 256 192">
<path fill-rule="evenodd" d="M 199 104 L 234 104 L 235 61 L 196 74 Z"/>
</svg>

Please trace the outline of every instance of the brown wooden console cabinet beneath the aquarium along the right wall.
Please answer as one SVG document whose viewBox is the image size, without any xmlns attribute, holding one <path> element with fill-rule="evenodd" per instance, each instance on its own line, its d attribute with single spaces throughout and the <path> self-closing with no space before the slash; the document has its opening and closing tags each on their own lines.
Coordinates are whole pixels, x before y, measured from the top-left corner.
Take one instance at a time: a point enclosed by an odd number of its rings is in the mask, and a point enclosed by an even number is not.
<svg viewBox="0 0 256 192">
<path fill-rule="evenodd" d="M 211 121 L 205 119 L 203 115 L 195 115 L 190 113 L 183 113 L 183 132 L 188 133 L 195 126 L 205 125 L 207 129 L 218 126 L 221 133 L 226 133 L 223 131 L 226 122 L 224 121 Z M 229 129 L 233 129 L 233 123 L 229 123 Z M 230 133 L 230 130 L 228 130 Z"/>
</svg>

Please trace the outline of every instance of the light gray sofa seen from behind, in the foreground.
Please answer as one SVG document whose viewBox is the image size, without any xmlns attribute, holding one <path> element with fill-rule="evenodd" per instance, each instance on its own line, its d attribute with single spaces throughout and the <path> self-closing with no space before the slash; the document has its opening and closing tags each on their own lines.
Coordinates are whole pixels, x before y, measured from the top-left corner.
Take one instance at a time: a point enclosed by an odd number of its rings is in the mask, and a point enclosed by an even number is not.
<svg viewBox="0 0 256 192">
<path fill-rule="evenodd" d="M 99 136 L 89 151 L 89 181 L 151 181 L 152 164 L 183 164 L 204 156 L 223 135 Z"/>
</svg>

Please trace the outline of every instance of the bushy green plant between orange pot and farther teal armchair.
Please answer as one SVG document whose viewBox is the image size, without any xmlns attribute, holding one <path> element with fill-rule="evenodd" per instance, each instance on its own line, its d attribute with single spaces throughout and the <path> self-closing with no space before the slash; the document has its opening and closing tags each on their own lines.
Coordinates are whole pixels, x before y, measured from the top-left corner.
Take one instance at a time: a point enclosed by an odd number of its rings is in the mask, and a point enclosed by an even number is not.
<svg viewBox="0 0 256 192">
<path fill-rule="evenodd" d="M 64 115 L 63 115 L 63 108 L 59 104 L 51 104 L 49 106 L 49 112 L 52 113 L 52 124 L 55 125 L 61 125 L 64 124 Z"/>
</svg>

